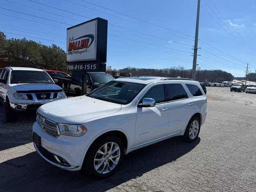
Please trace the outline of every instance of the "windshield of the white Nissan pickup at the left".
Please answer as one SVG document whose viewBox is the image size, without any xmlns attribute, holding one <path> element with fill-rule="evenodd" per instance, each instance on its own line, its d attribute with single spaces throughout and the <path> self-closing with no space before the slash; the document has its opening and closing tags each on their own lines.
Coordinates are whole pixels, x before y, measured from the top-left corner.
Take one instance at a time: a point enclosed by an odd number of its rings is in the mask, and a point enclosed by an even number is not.
<svg viewBox="0 0 256 192">
<path fill-rule="evenodd" d="M 50 76 L 44 71 L 26 71 L 26 70 L 13 70 L 12 83 L 50 83 L 52 79 Z"/>
</svg>

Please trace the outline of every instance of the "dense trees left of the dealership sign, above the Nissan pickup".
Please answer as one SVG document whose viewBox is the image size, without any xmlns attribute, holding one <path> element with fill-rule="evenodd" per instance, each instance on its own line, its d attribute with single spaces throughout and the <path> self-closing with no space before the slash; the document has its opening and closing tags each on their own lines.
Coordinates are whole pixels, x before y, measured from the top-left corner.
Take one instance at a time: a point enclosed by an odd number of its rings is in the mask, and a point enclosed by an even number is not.
<svg viewBox="0 0 256 192">
<path fill-rule="evenodd" d="M 46 46 L 26 38 L 6 39 L 0 32 L 0 68 L 6 66 L 66 71 L 66 52 L 55 44 Z"/>
</svg>

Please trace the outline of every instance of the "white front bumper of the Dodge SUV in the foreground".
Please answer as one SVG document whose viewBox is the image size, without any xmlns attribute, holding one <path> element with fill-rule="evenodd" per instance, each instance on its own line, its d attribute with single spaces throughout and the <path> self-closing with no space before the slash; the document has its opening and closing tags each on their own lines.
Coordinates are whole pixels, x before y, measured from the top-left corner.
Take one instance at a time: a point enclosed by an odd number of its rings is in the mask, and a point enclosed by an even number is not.
<svg viewBox="0 0 256 192">
<path fill-rule="evenodd" d="M 58 138 L 54 138 L 46 134 L 36 122 L 33 124 L 34 132 L 41 137 L 41 146 L 44 150 L 47 150 L 52 156 L 56 155 L 63 158 L 68 162 L 68 165 L 60 164 L 58 161 L 48 158 L 40 152 L 40 149 L 34 143 L 36 151 L 42 158 L 52 165 L 66 170 L 76 171 L 81 169 L 85 152 L 90 144 L 90 139 L 86 135 L 79 137 L 60 135 Z"/>
</svg>

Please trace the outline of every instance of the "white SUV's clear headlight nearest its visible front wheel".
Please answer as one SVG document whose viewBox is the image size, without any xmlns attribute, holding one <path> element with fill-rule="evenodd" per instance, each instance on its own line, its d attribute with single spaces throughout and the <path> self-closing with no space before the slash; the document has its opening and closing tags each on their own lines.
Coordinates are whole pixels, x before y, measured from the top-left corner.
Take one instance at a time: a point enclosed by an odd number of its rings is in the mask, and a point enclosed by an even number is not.
<svg viewBox="0 0 256 192">
<path fill-rule="evenodd" d="M 82 136 L 87 129 L 83 125 L 62 124 L 58 123 L 60 134 L 69 136 Z"/>
</svg>

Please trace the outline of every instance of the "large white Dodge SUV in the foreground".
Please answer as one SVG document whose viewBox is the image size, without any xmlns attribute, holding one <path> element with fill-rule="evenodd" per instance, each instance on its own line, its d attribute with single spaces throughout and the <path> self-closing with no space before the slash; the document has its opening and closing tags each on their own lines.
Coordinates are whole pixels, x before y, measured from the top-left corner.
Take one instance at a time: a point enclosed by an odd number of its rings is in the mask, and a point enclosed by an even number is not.
<svg viewBox="0 0 256 192">
<path fill-rule="evenodd" d="M 105 177 L 133 150 L 174 136 L 196 140 L 206 106 L 204 91 L 193 80 L 120 78 L 86 96 L 38 108 L 34 147 L 55 166 Z"/>
</svg>

